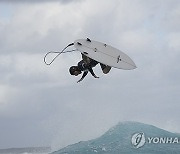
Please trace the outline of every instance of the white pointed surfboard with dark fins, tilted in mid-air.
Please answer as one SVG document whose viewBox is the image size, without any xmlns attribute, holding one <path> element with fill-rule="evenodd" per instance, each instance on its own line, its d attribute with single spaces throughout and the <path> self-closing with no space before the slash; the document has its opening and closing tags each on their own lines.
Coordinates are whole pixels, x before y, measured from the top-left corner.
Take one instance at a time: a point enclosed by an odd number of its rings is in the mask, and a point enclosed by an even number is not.
<svg viewBox="0 0 180 154">
<path fill-rule="evenodd" d="M 102 64 L 124 70 L 136 68 L 136 64 L 128 55 L 105 43 L 87 38 L 74 41 L 74 46 L 82 54 Z"/>
</svg>

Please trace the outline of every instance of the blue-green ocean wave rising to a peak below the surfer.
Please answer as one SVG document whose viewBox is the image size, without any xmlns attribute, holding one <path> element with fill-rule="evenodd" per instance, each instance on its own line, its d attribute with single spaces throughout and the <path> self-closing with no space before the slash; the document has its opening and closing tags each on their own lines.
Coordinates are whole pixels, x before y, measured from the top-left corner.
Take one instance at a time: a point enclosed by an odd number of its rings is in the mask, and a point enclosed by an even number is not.
<svg viewBox="0 0 180 154">
<path fill-rule="evenodd" d="M 104 135 L 52 154 L 179 154 L 180 134 L 139 122 L 122 122 Z"/>
</svg>

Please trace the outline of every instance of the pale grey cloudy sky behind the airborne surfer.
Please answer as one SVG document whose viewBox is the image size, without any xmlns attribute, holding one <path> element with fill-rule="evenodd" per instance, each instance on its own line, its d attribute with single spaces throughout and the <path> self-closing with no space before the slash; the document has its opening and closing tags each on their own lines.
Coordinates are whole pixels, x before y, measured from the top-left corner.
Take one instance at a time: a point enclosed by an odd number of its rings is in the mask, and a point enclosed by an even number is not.
<svg viewBox="0 0 180 154">
<path fill-rule="evenodd" d="M 123 121 L 180 133 L 179 0 L 0 0 L 0 148 L 66 145 Z M 135 70 L 69 74 L 79 38 L 112 45 Z"/>
</svg>

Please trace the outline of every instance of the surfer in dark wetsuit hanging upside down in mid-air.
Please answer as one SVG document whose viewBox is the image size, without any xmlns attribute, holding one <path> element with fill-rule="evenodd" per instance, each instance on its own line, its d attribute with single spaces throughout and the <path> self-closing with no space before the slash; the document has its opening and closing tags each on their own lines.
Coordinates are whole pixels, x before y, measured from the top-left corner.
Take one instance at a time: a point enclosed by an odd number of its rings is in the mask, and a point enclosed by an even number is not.
<svg viewBox="0 0 180 154">
<path fill-rule="evenodd" d="M 78 80 L 77 83 L 82 81 L 85 78 L 85 76 L 88 74 L 88 72 L 90 72 L 94 78 L 99 78 L 98 76 L 96 76 L 96 74 L 94 73 L 94 71 L 92 69 L 98 63 L 99 62 L 97 62 L 97 61 L 85 56 L 84 54 L 82 54 L 82 60 L 78 63 L 77 66 L 71 66 L 69 69 L 69 72 L 71 75 L 75 75 L 75 76 L 78 76 L 79 74 L 84 72 L 81 79 Z M 101 66 L 101 69 L 102 69 L 104 74 L 109 73 L 109 71 L 111 70 L 111 67 L 108 65 L 104 65 L 104 64 L 100 63 L 100 66 Z"/>
</svg>

